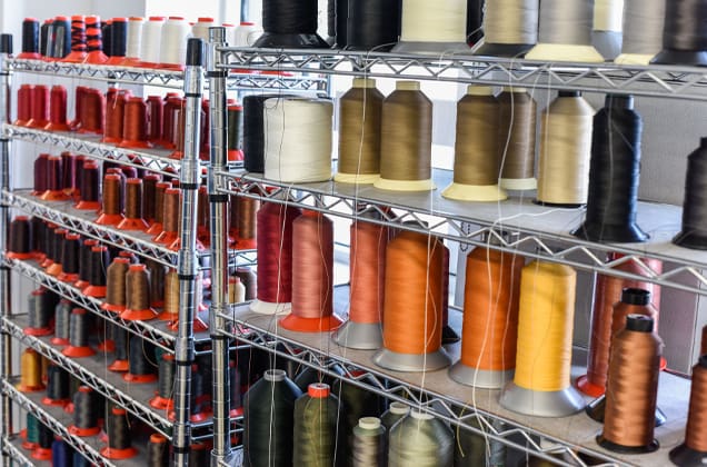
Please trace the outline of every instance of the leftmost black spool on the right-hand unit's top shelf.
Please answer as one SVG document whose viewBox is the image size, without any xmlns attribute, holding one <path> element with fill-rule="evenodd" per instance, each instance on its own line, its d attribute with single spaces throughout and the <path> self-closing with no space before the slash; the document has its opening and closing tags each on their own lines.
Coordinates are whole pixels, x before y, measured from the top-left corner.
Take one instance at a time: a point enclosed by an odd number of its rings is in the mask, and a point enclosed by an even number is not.
<svg viewBox="0 0 707 467">
<path fill-rule="evenodd" d="M 317 0 L 301 0 L 297 3 L 263 0 L 265 32 L 253 47 L 328 49 L 329 44 L 317 34 Z"/>
</svg>

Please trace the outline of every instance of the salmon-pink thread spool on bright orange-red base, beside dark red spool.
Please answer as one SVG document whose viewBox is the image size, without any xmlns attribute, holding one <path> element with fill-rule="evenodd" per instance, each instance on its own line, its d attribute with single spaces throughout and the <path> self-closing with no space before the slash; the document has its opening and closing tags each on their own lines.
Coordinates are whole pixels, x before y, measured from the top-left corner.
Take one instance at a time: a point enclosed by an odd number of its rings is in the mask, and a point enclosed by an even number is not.
<svg viewBox="0 0 707 467">
<path fill-rule="evenodd" d="M 292 222 L 292 309 L 285 329 L 325 332 L 341 326 L 333 315 L 333 223 L 305 211 Z"/>
</svg>

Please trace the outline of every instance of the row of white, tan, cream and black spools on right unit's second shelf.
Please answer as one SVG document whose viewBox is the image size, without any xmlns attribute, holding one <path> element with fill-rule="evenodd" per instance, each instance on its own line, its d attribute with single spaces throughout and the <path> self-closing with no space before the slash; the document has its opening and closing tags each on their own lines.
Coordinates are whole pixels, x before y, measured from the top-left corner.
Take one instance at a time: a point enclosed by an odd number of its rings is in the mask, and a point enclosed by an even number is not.
<svg viewBox="0 0 707 467">
<path fill-rule="evenodd" d="M 331 178 L 331 101 L 248 96 L 243 109 L 247 170 L 285 183 Z M 432 103 L 418 82 L 398 81 L 384 97 L 374 80 L 355 79 L 339 101 L 333 179 L 399 192 L 436 189 L 432 121 Z M 630 96 L 608 95 L 605 107 L 595 112 L 579 92 L 560 91 L 538 119 L 536 102 L 525 89 L 507 88 L 496 96 L 492 88 L 470 86 L 457 105 L 456 135 L 454 182 L 442 197 L 498 202 L 509 190 L 537 188 L 539 205 L 587 206 L 585 222 L 572 231 L 577 237 L 600 242 L 648 239 L 636 223 L 643 121 Z M 683 230 L 674 239 L 686 248 L 707 248 L 699 189 L 707 178 L 706 146 L 701 141 L 689 157 Z"/>
</svg>

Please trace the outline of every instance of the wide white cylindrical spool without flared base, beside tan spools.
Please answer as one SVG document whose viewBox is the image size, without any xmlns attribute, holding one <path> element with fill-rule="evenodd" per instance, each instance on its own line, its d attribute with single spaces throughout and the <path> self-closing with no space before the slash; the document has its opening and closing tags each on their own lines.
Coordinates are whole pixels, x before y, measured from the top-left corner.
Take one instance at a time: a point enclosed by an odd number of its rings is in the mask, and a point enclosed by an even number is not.
<svg viewBox="0 0 707 467">
<path fill-rule="evenodd" d="M 265 101 L 265 177 L 283 182 L 331 178 L 329 100 L 297 97 Z"/>
</svg>

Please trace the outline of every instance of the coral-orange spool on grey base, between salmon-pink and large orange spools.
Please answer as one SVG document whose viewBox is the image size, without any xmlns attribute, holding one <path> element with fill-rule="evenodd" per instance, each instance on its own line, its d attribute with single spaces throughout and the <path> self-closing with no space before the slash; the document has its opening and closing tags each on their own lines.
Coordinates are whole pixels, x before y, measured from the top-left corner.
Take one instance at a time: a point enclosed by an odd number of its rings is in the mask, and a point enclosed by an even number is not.
<svg viewBox="0 0 707 467">
<path fill-rule="evenodd" d="M 388 229 L 365 220 L 350 227 L 349 319 L 333 335 L 340 346 L 375 350 L 382 345 Z"/>
</svg>

